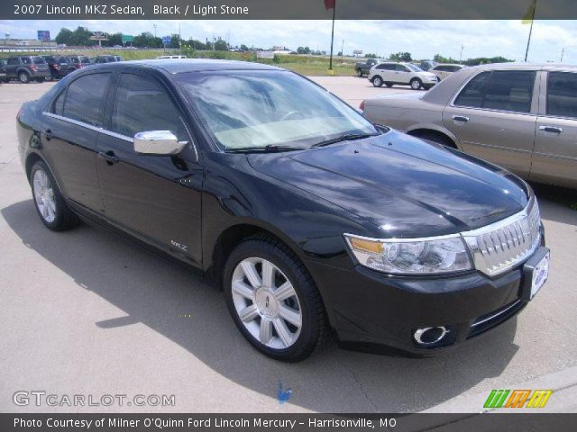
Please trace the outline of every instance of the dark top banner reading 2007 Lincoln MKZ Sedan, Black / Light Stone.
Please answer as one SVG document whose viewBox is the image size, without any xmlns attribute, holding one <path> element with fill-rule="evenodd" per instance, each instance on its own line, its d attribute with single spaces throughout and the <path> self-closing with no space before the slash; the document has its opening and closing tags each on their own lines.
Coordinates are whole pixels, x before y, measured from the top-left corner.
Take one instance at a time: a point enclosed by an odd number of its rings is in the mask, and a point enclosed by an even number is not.
<svg viewBox="0 0 577 432">
<path fill-rule="evenodd" d="M 572 20 L 575 0 L 3 0 L 3 20 Z"/>
</svg>

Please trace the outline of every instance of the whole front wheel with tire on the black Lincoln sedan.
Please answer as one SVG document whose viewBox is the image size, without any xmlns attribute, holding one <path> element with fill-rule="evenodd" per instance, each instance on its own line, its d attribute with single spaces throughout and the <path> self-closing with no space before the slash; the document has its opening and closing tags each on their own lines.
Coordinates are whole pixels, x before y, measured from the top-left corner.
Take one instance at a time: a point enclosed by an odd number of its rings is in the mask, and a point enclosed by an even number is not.
<svg viewBox="0 0 577 432">
<path fill-rule="evenodd" d="M 298 362 L 327 338 L 312 277 L 274 238 L 250 238 L 234 248 L 224 266 L 224 294 L 236 327 L 265 356 Z"/>
</svg>

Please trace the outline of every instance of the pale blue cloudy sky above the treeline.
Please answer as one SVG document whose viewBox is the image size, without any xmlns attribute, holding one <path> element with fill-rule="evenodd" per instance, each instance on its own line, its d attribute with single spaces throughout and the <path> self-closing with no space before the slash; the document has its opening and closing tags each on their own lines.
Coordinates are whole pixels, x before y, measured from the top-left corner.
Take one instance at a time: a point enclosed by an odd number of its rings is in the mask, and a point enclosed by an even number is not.
<svg viewBox="0 0 577 432">
<path fill-rule="evenodd" d="M 35 39 L 37 30 L 50 30 L 53 37 L 60 28 L 87 27 L 91 31 L 122 32 L 136 35 L 142 31 L 158 36 L 178 33 L 183 39 L 211 39 L 213 36 L 230 40 L 234 45 L 245 44 L 270 48 L 286 46 L 297 49 L 328 51 L 331 21 L 0 21 L 0 39 L 5 33 L 11 38 Z M 389 57 L 390 53 L 408 51 L 415 59 L 433 58 L 435 54 L 463 59 L 503 56 L 515 60 L 525 58 L 529 25 L 520 21 L 353 21 L 337 20 L 334 26 L 334 52 L 344 47 L 344 53 L 361 49 Z M 529 61 L 558 62 L 565 47 L 563 62 L 577 64 L 577 21 L 536 21 L 533 28 Z"/>
</svg>

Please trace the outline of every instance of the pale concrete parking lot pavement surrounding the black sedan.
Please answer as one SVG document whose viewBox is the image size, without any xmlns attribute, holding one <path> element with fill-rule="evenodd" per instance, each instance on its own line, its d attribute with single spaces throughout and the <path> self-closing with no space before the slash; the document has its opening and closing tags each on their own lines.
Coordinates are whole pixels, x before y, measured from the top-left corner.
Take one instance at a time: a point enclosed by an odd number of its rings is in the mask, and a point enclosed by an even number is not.
<svg viewBox="0 0 577 432">
<path fill-rule="evenodd" d="M 405 92 L 356 77 L 314 78 L 358 106 Z M 243 339 L 222 293 L 120 238 L 45 229 L 16 155 L 14 117 L 51 84 L 0 86 L 0 411 L 481 411 L 491 389 L 553 389 L 577 410 L 577 211 L 541 200 L 549 282 L 516 319 L 435 358 L 336 345 L 286 365 Z M 290 400 L 277 400 L 279 382 Z M 171 407 L 16 406 L 18 391 L 175 395 Z"/>
</svg>

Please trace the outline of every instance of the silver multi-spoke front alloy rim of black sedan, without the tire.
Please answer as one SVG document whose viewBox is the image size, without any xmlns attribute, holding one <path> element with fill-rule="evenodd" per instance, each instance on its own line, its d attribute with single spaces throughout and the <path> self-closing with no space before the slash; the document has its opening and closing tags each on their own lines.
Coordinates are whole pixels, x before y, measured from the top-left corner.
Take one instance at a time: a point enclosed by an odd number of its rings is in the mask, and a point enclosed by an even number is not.
<svg viewBox="0 0 577 432">
<path fill-rule="evenodd" d="M 232 280 L 234 310 L 244 327 L 262 345 L 286 349 L 302 328 L 298 295 L 279 267 L 260 257 L 243 259 Z"/>
</svg>

